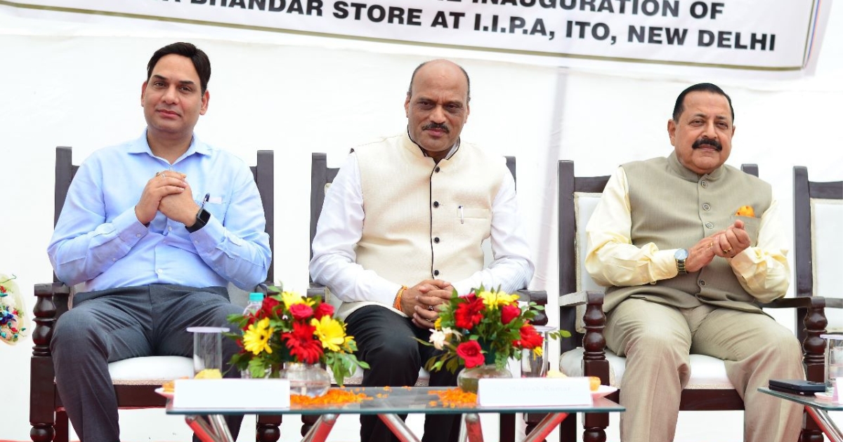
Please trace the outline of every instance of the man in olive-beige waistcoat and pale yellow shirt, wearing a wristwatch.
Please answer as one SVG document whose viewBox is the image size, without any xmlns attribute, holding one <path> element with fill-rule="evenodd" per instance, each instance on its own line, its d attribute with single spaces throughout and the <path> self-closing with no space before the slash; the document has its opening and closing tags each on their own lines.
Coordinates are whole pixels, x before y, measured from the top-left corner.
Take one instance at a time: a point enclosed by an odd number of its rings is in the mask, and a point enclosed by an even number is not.
<svg viewBox="0 0 843 442">
<path fill-rule="evenodd" d="M 723 164 L 733 120 L 721 88 L 685 89 L 668 120 L 674 152 L 618 168 L 588 222 L 586 267 L 609 286 L 606 343 L 626 355 L 624 442 L 674 439 L 690 352 L 726 361 L 745 440 L 799 435 L 802 407 L 757 391 L 804 372 L 794 334 L 758 306 L 787 291 L 787 244 L 770 184 Z"/>
</svg>

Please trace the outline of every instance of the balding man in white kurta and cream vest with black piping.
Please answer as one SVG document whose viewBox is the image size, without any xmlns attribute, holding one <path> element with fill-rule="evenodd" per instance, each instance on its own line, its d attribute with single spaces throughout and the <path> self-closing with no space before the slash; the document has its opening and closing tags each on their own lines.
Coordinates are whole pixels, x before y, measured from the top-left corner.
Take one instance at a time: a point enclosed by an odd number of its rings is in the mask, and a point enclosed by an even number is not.
<svg viewBox="0 0 843 442">
<path fill-rule="evenodd" d="M 310 274 L 330 289 L 358 358 L 364 386 L 412 386 L 437 350 L 421 345 L 438 306 L 456 290 L 514 291 L 534 266 L 518 223 L 515 183 L 503 157 L 460 140 L 469 77 L 450 61 L 416 68 L 405 99 L 407 130 L 357 146 L 325 194 Z M 484 268 L 481 243 L 491 237 Z M 448 370 L 431 386 L 454 386 Z M 397 440 L 376 416 L 361 440 Z M 459 416 L 429 415 L 422 440 L 456 440 Z"/>
</svg>

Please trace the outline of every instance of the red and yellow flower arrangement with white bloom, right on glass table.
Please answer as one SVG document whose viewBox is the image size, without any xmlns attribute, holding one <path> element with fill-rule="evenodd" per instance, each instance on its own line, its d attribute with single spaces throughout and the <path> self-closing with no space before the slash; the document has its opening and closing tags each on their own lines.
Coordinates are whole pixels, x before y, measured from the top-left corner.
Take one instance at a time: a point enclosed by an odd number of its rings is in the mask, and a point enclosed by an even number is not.
<svg viewBox="0 0 843 442">
<path fill-rule="evenodd" d="M 519 306 L 518 295 L 500 290 L 481 287 L 467 296 L 454 290 L 426 343 L 443 354 L 427 361 L 427 370 L 445 367 L 453 373 L 460 365 L 470 369 L 492 364 L 502 369 L 507 359 L 519 358 L 522 349 L 541 354 L 544 338 L 530 322 L 543 309 L 535 302 Z M 550 333 L 550 338 L 568 336 L 571 333 L 564 330 Z"/>
</svg>

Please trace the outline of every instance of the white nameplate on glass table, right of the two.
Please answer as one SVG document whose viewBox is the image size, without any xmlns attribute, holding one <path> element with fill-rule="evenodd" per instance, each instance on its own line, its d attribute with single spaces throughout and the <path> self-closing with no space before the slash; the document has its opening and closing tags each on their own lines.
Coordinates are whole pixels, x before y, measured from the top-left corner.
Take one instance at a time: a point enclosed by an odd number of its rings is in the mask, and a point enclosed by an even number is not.
<svg viewBox="0 0 843 442">
<path fill-rule="evenodd" d="M 592 405 L 587 377 L 481 379 L 477 402 L 483 407 Z"/>
</svg>

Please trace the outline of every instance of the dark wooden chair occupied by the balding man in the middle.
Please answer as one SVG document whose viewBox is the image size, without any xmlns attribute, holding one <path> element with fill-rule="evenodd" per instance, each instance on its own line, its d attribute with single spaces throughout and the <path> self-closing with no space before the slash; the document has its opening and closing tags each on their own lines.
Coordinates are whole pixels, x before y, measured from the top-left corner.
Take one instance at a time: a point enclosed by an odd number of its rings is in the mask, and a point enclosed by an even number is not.
<svg viewBox="0 0 843 442">
<path fill-rule="evenodd" d="M 507 168 L 509 172 L 515 175 L 515 157 L 507 158 Z M 325 203 L 325 190 L 328 189 L 330 183 L 336 178 L 336 173 L 339 168 L 329 168 L 328 160 L 325 153 L 313 153 L 311 157 L 310 169 L 310 243 L 313 244 L 316 236 L 316 225 L 319 222 L 319 216 L 322 213 L 322 205 Z M 488 253 L 487 253 L 488 254 Z M 310 249 L 310 258 L 313 258 L 313 248 Z M 518 290 L 522 295 L 522 299 L 529 299 L 536 303 L 545 306 L 547 304 L 547 292 L 544 290 Z M 310 286 L 308 289 L 308 296 L 325 297 L 330 296 L 330 292 L 326 290 L 325 286 L 318 285 L 310 279 Z M 547 317 L 542 313 L 540 317 L 536 317 L 537 324 L 547 323 Z M 419 372 L 419 379 L 416 381 L 416 386 L 427 386 L 430 375 L 426 370 L 421 369 Z M 346 378 L 346 386 L 359 386 L 362 384 L 362 370 L 357 370 L 357 373 L 350 378 Z M 303 428 L 302 435 L 306 434 L 307 430 L 316 422 L 318 416 L 302 416 Z M 502 414 L 500 424 L 500 441 L 514 442 L 515 438 L 515 416 L 513 414 Z"/>
</svg>

